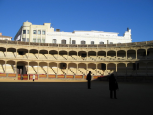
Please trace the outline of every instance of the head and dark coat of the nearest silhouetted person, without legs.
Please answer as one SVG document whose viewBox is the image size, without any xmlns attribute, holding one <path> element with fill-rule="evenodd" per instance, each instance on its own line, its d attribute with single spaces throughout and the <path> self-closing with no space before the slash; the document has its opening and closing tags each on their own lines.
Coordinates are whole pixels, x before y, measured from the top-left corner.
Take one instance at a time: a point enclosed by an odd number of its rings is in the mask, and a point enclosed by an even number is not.
<svg viewBox="0 0 153 115">
<path fill-rule="evenodd" d="M 109 77 L 109 90 L 117 90 L 118 89 L 118 83 L 114 77 L 114 75 L 110 75 Z"/>
</svg>

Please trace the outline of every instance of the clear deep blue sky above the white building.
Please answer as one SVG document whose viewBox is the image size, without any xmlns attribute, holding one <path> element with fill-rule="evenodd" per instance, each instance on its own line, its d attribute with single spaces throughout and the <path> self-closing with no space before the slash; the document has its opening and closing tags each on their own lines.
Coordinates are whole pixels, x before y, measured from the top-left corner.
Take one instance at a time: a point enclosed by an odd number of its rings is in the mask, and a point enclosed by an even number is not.
<svg viewBox="0 0 153 115">
<path fill-rule="evenodd" d="M 0 32 L 15 34 L 25 21 L 51 23 L 65 32 L 118 32 L 129 27 L 132 41 L 153 40 L 153 0 L 0 0 Z"/>
</svg>

